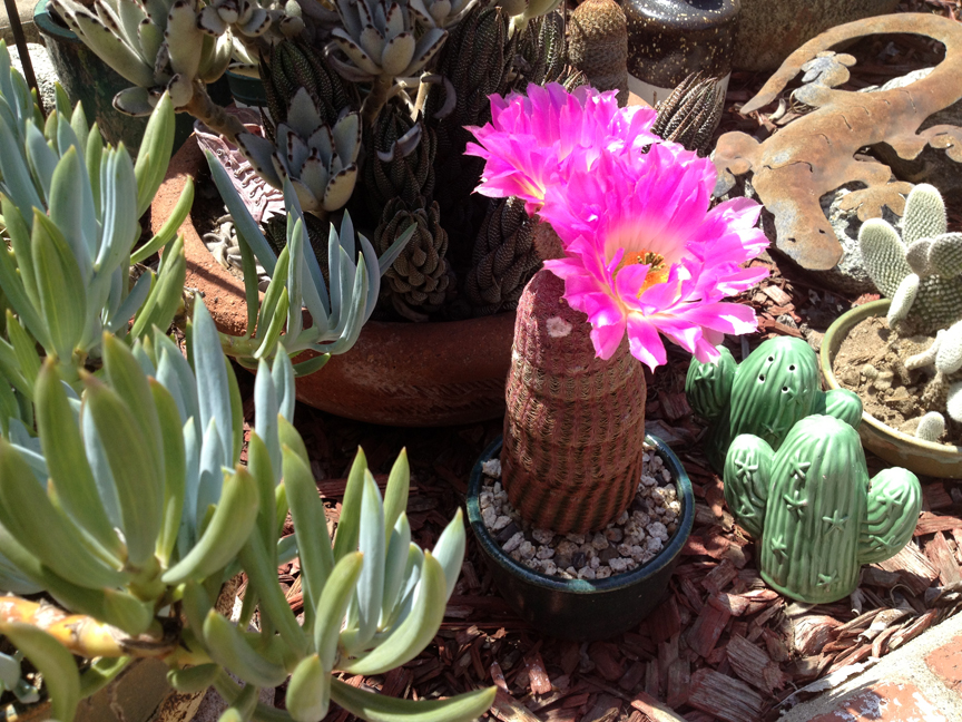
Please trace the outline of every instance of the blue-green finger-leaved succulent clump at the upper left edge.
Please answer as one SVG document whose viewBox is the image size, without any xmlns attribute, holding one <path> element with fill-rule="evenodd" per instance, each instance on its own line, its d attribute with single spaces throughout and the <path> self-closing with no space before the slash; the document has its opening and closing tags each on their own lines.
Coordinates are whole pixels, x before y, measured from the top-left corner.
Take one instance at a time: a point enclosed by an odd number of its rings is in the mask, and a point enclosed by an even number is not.
<svg viewBox="0 0 962 722">
<path fill-rule="evenodd" d="M 186 273 L 183 241 L 170 245 L 159 273 L 147 271 L 132 286 L 130 264 L 174 241 L 194 187 L 187 184 L 164 228 L 135 251 L 137 221 L 164 179 L 174 144 L 170 99 L 164 95 L 158 103 L 136 164 L 122 145 L 104 145 L 82 107 L 71 111 L 62 89 L 47 121 L 38 118 L 6 45 L 0 99 L 10 110 L 0 118 L 0 204 L 12 248 L 0 253 L 0 289 L 16 314 L 7 322 L 12 348 L 0 342 L 0 357 L 7 355 L 8 368 L 19 367 L 14 387 L 30 398 L 40 364 L 35 343 L 59 359 L 72 382 L 75 363 L 99 358 L 102 330 L 125 335 L 135 315 L 134 338 L 170 324 Z M 0 406 L 10 411 L 6 401 Z"/>
</svg>

